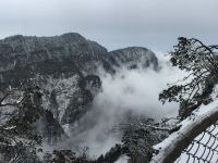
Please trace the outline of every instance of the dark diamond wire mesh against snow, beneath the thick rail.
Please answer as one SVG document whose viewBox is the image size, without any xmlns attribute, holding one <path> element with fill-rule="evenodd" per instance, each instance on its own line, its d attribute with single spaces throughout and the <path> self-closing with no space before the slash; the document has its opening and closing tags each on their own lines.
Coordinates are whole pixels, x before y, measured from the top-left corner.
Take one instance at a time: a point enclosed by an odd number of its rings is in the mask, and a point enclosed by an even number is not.
<svg viewBox="0 0 218 163">
<path fill-rule="evenodd" d="M 218 163 L 218 123 L 192 140 L 175 163 Z"/>
</svg>

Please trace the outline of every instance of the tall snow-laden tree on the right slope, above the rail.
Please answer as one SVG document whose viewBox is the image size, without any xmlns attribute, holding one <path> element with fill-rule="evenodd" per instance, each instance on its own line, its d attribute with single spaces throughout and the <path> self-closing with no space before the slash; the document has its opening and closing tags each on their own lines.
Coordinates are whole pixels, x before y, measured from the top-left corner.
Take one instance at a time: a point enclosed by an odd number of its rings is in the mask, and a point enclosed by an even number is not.
<svg viewBox="0 0 218 163">
<path fill-rule="evenodd" d="M 159 99 L 164 103 L 167 100 L 180 102 L 179 115 L 183 120 L 202 103 L 211 101 L 210 95 L 218 82 L 218 46 L 206 46 L 197 39 L 180 37 L 170 57 L 172 65 L 189 75 L 164 90 Z"/>
</svg>

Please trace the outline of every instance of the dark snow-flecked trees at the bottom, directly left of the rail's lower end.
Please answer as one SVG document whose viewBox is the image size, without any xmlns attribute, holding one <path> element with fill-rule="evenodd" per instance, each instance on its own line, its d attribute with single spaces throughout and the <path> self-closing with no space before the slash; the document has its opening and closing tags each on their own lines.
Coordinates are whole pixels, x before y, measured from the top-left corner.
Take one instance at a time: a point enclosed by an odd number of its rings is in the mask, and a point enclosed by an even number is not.
<svg viewBox="0 0 218 163">
<path fill-rule="evenodd" d="M 170 130 L 161 125 L 145 117 L 133 118 L 129 124 L 121 125 L 123 153 L 131 162 L 149 162 L 153 155 L 152 147 L 166 138 Z"/>
</svg>

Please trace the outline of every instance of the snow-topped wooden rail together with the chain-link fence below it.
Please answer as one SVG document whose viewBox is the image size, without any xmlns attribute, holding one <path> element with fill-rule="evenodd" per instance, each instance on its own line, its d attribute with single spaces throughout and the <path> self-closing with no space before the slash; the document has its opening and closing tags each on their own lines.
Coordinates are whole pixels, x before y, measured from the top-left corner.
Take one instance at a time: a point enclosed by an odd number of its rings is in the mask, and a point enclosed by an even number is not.
<svg viewBox="0 0 218 163">
<path fill-rule="evenodd" d="M 218 108 L 180 124 L 154 147 L 152 163 L 218 163 Z"/>
</svg>

